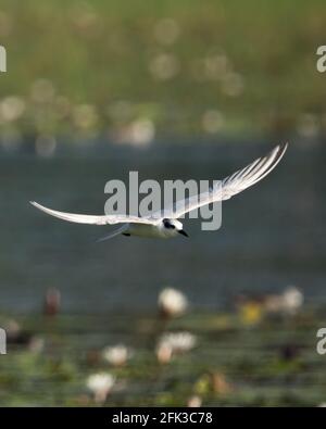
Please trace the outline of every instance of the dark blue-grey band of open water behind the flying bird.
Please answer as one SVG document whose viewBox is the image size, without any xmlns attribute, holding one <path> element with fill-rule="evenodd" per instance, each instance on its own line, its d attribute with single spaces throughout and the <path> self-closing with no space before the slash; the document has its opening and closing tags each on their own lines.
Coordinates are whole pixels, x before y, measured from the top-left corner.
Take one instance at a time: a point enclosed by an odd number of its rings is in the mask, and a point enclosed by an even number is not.
<svg viewBox="0 0 326 429">
<path fill-rule="evenodd" d="M 308 300 L 326 301 L 326 149 L 290 146 L 271 176 L 223 205 L 214 232 L 186 220 L 190 238 L 116 237 L 112 227 L 51 218 L 29 200 L 68 212 L 102 214 L 104 184 L 139 171 L 140 179 L 220 179 L 271 144 L 103 146 L 60 149 L 51 159 L 0 154 L 0 305 L 33 311 L 57 287 L 68 312 L 150 311 L 166 285 L 195 307 L 228 306 L 238 292 L 277 292 L 292 283 Z"/>
</svg>

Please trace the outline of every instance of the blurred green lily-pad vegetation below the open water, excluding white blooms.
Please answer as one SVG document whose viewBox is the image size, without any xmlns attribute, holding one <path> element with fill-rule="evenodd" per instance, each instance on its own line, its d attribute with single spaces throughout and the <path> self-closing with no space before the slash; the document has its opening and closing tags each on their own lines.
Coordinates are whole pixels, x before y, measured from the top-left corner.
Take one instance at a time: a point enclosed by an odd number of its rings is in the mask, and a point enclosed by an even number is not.
<svg viewBox="0 0 326 429">
<path fill-rule="evenodd" d="M 104 406 L 185 406 L 190 399 L 213 406 L 317 406 L 326 394 L 325 357 L 315 351 L 319 318 L 312 310 L 253 325 L 235 313 L 195 312 L 163 325 L 154 315 L 137 314 L 21 316 L 32 337 L 0 356 L 0 402 L 93 406 L 87 378 L 104 373 L 115 379 L 98 404 Z M 162 328 L 191 331 L 196 348 L 160 364 L 155 345 Z M 101 353 L 121 342 L 133 354 L 115 367 Z"/>
</svg>

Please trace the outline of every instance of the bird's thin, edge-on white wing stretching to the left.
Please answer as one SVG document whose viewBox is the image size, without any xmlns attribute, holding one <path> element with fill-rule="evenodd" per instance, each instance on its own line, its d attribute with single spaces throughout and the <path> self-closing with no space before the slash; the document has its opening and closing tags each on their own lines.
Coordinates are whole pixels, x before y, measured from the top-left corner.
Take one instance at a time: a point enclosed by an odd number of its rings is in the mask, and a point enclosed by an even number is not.
<svg viewBox="0 0 326 429">
<path fill-rule="evenodd" d="M 114 225 L 114 224 L 148 224 L 153 225 L 158 220 L 153 220 L 146 217 L 137 217 L 137 216 L 127 216 L 127 215 L 102 215 L 102 216 L 93 216 L 93 215 L 84 215 L 84 214 L 75 214 L 75 213 L 64 213 L 58 212 L 57 210 L 51 210 L 45 207 L 43 205 L 38 204 L 35 201 L 30 201 L 35 207 L 41 210 L 42 212 L 59 217 L 60 219 L 67 222 L 75 222 L 77 224 L 89 224 L 89 225 Z"/>
</svg>

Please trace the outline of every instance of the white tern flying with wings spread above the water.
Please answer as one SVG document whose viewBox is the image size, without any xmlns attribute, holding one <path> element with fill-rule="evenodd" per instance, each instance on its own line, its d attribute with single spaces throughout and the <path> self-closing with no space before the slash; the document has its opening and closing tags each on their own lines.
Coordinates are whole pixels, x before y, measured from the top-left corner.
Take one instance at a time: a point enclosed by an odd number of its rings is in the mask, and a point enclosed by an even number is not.
<svg viewBox="0 0 326 429">
<path fill-rule="evenodd" d="M 247 167 L 237 171 L 231 176 L 218 181 L 212 189 L 198 195 L 192 195 L 185 200 L 179 200 L 163 212 L 158 212 L 147 217 L 128 215 L 84 215 L 74 213 L 58 212 L 47 209 L 35 201 L 30 201 L 35 207 L 60 219 L 74 222 L 77 224 L 90 225 L 114 225 L 122 224 L 121 228 L 114 230 L 100 241 L 115 237 L 120 234 L 124 236 L 138 236 L 150 238 L 172 238 L 181 234 L 188 237 L 183 228 L 179 217 L 192 210 L 217 201 L 228 200 L 236 193 L 256 184 L 276 167 L 287 150 L 288 143 L 278 144 L 266 156 L 255 160 Z"/>
</svg>

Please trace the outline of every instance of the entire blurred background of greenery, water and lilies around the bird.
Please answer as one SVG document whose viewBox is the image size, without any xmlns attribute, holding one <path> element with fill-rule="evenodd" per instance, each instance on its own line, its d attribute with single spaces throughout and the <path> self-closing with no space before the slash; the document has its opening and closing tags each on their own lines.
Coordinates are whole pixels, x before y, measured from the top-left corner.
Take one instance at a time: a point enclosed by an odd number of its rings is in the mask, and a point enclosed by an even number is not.
<svg viewBox="0 0 326 429">
<path fill-rule="evenodd" d="M 0 0 L 0 405 L 325 406 L 325 17 L 323 0 Z M 285 139 L 221 230 L 186 219 L 189 241 L 95 244 L 105 230 L 28 204 L 100 214 L 129 171 L 220 179 Z"/>
</svg>

